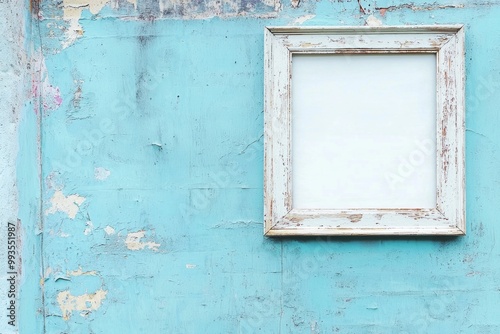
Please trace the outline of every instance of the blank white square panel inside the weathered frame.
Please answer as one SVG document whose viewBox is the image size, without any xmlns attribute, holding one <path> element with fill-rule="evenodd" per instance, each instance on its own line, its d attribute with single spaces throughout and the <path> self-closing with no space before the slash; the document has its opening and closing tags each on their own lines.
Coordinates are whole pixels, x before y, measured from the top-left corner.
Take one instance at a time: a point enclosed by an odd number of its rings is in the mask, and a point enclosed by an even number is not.
<svg viewBox="0 0 500 334">
<path fill-rule="evenodd" d="M 293 55 L 293 208 L 435 208 L 435 152 L 434 54 Z"/>
</svg>

